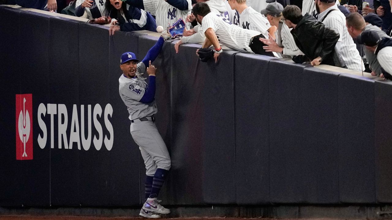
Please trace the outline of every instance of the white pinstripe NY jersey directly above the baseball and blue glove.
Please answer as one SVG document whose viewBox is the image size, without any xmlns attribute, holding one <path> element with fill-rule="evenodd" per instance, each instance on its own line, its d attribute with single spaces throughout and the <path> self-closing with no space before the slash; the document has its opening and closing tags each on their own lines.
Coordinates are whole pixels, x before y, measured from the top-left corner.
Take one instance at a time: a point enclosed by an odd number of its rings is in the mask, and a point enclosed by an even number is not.
<svg viewBox="0 0 392 220">
<path fill-rule="evenodd" d="M 158 0 L 155 14 L 156 26 L 161 25 L 165 29 L 167 26 L 172 25 L 180 18 L 182 18 L 185 22 L 187 15 L 191 14 L 192 11 L 191 0 L 186 1 L 188 2 L 188 9 L 181 11 L 180 9 L 177 9 L 176 7 L 173 7 L 167 3 L 165 0 Z M 189 29 L 190 23 L 186 22 L 186 25 L 187 29 Z"/>
</svg>

